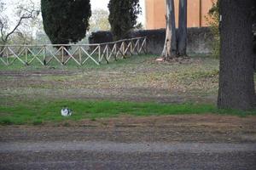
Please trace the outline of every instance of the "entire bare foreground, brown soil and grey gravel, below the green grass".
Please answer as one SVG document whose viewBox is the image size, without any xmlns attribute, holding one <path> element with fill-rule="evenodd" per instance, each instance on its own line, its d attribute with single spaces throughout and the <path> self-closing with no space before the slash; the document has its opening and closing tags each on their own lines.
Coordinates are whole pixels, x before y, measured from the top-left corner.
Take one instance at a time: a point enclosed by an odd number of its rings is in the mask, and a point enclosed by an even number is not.
<svg viewBox="0 0 256 170">
<path fill-rule="evenodd" d="M 121 117 L 0 127 L 0 169 L 256 168 L 256 117 Z"/>
</svg>

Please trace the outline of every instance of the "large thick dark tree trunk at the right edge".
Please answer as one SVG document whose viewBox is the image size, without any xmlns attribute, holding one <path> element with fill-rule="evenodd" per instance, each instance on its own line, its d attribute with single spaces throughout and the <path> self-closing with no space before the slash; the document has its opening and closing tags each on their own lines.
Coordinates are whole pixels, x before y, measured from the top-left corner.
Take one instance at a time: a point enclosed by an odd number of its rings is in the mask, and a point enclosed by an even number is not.
<svg viewBox="0 0 256 170">
<path fill-rule="evenodd" d="M 254 0 L 220 1 L 220 72 L 218 107 L 250 110 L 253 82 L 252 6 Z"/>
</svg>

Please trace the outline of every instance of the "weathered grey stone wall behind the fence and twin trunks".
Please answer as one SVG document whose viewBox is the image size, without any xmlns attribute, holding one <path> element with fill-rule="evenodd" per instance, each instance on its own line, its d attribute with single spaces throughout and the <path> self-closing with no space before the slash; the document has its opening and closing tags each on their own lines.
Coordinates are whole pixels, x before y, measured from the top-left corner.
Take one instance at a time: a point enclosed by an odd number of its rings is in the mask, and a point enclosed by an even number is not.
<svg viewBox="0 0 256 170">
<path fill-rule="evenodd" d="M 166 30 L 140 30 L 132 31 L 131 37 L 148 37 L 148 52 L 150 54 L 161 54 Z M 112 42 L 113 36 L 110 31 L 93 32 L 89 37 L 90 43 Z M 209 54 L 211 48 L 212 33 L 209 28 L 189 28 L 188 29 L 188 54 Z"/>
</svg>

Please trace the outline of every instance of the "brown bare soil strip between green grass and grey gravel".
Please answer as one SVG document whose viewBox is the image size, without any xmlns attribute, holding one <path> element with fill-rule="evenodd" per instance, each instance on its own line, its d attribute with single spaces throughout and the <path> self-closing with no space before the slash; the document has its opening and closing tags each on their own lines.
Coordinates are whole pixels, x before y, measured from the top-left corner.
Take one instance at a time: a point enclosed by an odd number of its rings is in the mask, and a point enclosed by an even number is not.
<svg viewBox="0 0 256 170">
<path fill-rule="evenodd" d="M 150 116 L 0 127 L 0 142 L 114 141 L 255 143 L 256 117 Z"/>
</svg>

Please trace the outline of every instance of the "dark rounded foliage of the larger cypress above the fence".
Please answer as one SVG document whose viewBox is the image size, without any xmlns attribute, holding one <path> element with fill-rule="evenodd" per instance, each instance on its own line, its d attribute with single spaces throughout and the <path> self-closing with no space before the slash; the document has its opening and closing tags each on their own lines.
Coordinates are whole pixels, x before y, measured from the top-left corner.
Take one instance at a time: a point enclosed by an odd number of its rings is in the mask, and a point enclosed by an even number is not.
<svg viewBox="0 0 256 170">
<path fill-rule="evenodd" d="M 79 42 L 89 29 L 90 0 L 41 0 L 44 31 L 53 44 Z"/>
</svg>

